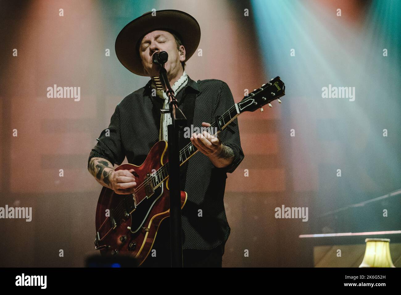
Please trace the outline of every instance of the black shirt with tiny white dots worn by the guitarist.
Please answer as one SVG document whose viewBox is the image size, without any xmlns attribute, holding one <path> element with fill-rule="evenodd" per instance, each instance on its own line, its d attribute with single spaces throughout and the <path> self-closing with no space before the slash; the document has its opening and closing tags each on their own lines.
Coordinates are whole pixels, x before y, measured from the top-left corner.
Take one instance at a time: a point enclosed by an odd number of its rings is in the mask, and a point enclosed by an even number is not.
<svg viewBox="0 0 401 295">
<path fill-rule="evenodd" d="M 93 157 L 107 159 L 113 165 L 121 165 L 125 157 L 128 163 L 142 165 L 150 149 L 159 137 L 160 108 L 162 100 L 152 96 L 150 80 L 144 87 L 132 92 L 115 107 L 110 124 L 97 138 L 89 161 Z M 190 89 L 191 88 L 191 89 Z M 182 110 L 181 98 L 187 91 L 196 92 L 193 125 L 213 123 L 216 115 L 222 115 L 234 105 L 233 95 L 227 83 L 217 79 L 194 81 L 188 76 L 186 86 L 176 94 L 178 107 Z M 228 129 L 231 128 L 233 132 Z M 241 163 L 244 154 L 241 148 L 237 118 L 219 133 L 223 144 L 234 151 L 231 165 L 217 168 L 210 159 L 198 151 L 188 159 L 185 191 L 187 202 L 182 209 L 183 249 L 210 250 L 225 244 L 231 228 L 224 208 L 224 191 L 227 173 L 232 173 Z M 169 218 L 162 225 L 169 228 Z M 162 226 L 160 226 L 160 229 Z M 167 230 L 168 231 L 168 230 Z M 163 239 L 158 232 L 156 242 Z M 160 244 L 160 242 L 159 242 Z M 170 247 L 167 233 L 164 244 Z"/>
</svg>

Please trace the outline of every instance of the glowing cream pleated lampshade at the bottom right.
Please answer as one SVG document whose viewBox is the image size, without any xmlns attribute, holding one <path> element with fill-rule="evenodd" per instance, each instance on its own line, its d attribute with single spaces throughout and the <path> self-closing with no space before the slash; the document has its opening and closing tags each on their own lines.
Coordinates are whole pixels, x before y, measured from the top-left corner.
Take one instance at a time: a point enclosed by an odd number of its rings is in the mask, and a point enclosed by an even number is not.
<svg viewBox="0 0 401 295">
<path fill-rule="evenodd" d="M 390 255 L 390 239 L 366 239 L 365 256 L 359 267 L 395 267 Z"/>
</svg>

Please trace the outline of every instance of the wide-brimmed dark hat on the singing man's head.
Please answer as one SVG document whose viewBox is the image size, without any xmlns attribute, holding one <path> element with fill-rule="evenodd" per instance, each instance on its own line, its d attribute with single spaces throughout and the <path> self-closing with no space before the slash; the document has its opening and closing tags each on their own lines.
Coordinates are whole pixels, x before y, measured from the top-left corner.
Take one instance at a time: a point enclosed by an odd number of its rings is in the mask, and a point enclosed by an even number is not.
<svg viewBox="0 0 401 295">
<path fill-rule="evenodd" d="M 146 12 L 124 26 L 115 40 L 118 60 L 129 71 L 148 76 L 139 56 L 139 45 L 143 37 L 155 30 L 173 32 L 185 47 L 185 61 L 196 51 L 201 40 L 201 28 L 195 18 L 180 10 L 158 10 Z M 154 14 L 153 13 L 153 14 Z"/>
</svg>

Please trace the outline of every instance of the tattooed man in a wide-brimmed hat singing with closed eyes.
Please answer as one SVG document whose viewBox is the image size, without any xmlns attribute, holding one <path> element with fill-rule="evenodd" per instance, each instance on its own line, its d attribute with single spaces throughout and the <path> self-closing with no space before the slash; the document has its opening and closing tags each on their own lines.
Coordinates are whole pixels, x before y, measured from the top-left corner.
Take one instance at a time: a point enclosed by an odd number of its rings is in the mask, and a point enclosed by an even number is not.
<svg viewBox="0 0 401 295">
<path fill-rule="evenodd" d="M 158 80 L 155 52 L 166 51 L 164 67 L 175 92 L 178 108 L 193 108 L 192 124 L 208 127 L 217 115 L 234 105 L 227 83 L 217 79 L 194 81 L 185 72 L 185 61 L 196 51 L 201 38 L 198 22 L 179 10 L 147 12 L 127 24 L 117 36 L 115 51 L 119 61 L 132 73 L 150 76 L 149 82 L 132 92 L 115 108 L 109 126 L 97 138 L 88 170 L 101 185 L 124 195 L 135 192 L 134 169 L 114 171 L 125 157 L 140 166 L 152 146 L 166 140 L 170 114 L 167 95 Z M 190 126 L 188 126 L 190 127 Z M 213 133 L 213 132 L 212 132 Z M 183 136 L 180 132 L 180 143 Z M 184 267 L 221 267 L 225 243 L 230 234 L 223 203 L 227 172 L 232 173 L 244 158 L 237 119 L 219 136 L 203 131 L 192 133 L 188 142 L 199 150 L 187 161 L 181 176 L 181 190 L 187 201 L 182 209 Z M 189 141 L 190 140 L 190 141 Z M 152 249 L 141 267 L 170 267 L 170 224 L 164 220 Z"/>
</svg>

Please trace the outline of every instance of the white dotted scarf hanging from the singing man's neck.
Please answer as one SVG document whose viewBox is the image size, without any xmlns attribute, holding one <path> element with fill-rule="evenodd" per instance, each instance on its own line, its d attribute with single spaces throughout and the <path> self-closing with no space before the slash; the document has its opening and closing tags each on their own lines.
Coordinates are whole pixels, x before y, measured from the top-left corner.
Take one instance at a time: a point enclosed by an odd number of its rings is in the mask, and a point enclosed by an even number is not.
<svg viewBox="0 0 401 295">
<path fill-rule="evenodd" d="M 156 83 L 158 84 L 157 87 L 154 84 L 152 79 L 152 88 L 156 89 L 156 96 L 164 100 L 163 108 L 168 108 L 168 96 L 164 92 L 163 87 L 161 85 L 159 77 L 153 77 Z M 172 90 L 174 91 L 174 96 L 177 96 L 178 92 L 184 88 L 184 86 L 188 83 L 188 75 L 184 71 L 180 79 L 178 79 L 174 85 L 171 86 Z M 161 114 L 160 116 L 160 132 L 159 132 L 159 141 L 166 140 L 167 141 L 167 125 L 172 124 L 170 113 Z"/>
</svg>

